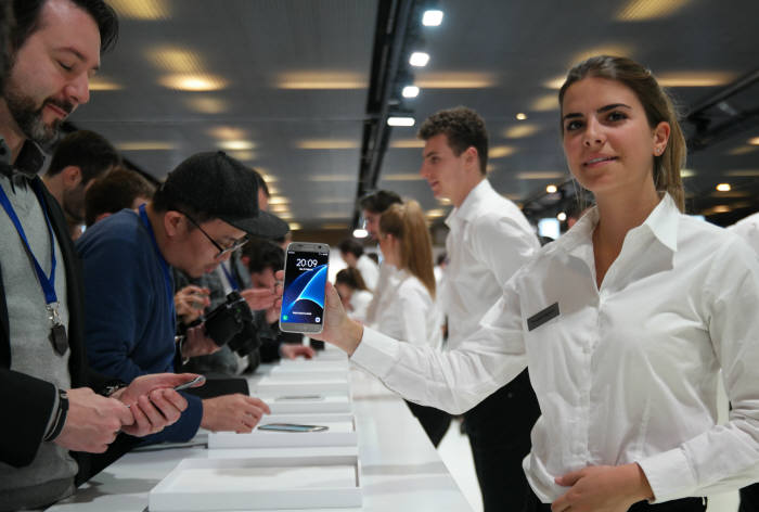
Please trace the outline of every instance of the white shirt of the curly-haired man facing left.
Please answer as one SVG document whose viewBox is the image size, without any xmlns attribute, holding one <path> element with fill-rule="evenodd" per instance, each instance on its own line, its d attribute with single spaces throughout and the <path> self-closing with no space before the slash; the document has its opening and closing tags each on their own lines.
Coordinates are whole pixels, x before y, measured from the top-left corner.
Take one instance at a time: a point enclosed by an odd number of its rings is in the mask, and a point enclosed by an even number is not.
<svg viewBox="0 0 759 512">
<path fill-rule="evenodd" d="M 475 332 L 501 297 L 502 286 L 540 243 L 519 208 L 484 179 L 446 219 L 449 265 L 440 307 L 448 316 L 448 348 Z"/>
</svg>

